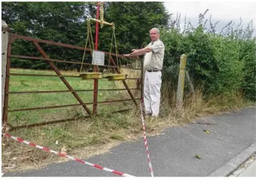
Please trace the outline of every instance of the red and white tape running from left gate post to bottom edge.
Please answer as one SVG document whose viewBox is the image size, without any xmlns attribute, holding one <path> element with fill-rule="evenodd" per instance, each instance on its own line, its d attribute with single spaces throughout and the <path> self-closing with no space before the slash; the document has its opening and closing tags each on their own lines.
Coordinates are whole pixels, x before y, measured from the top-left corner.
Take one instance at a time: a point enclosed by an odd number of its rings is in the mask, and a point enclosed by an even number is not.
<svg viewBox="0 0 256 179">
<path fill-rule="evenodd" d="M 15 136 L 11 136 L 10 134 L 7 134 L 7 133 L 5 133 L 5 134 L 3 134 L 3 135 L 4 135 L 4 136 L 7 136 L 7 137 L 9 137 L 9 138 L 11 138 L 11 139 L 14 139 L 14 140 L 16 140 L 16 141 L 18 141 L 18 142 L 23 142 L 23 143 L 25 143 L 25 144 L 27 144 L 27 145 L 31 145 L 31 146 L 33 146 L 33 147 L 35 147 L 35 148 L 40 148 L 40 149 L 42 149 L 43 151 L 52 152 L 52 153 L 54 153 L 54 154 L 58 154 L 58 155 L 61 156 L 61 157 L 67 157 L 67 158 L 70 158 L 71 160 L 75 160 L 76 162 L 79 162 L 79 163 L 82 163 L 82 164 L 86 164 L 86 165 L 89 165 L 89 166 L 93 166 L 93 167 L 95 167 L 95 168 L 97 168 L 97 169 L 105 170 L 106 172 L 112 172 L 112 173 L 114 173 L 115 175 L 120 175 L 120 176 L 122 176 L 122 177 L 135 177 L 135 176 L 132 176 L 132 175 L 123 173 L 123 172 L 119 172 L 119 171 L 117 171 L 117 170 L 112 170 L 112 169 L 108 169 L 108 168 L 103 167 L 103 166 L 98 166 L 98 165 L 93 164 L 93 163 L 88 163 L 88 162 L 86 162 L 86 161 L 84 161 L 84 160 L 80 160 L 80 159 L 78 159 L 78 158 L 71 157 L 71 156 L 69 156 L 69 155 L 67 155 L 67 154 L 61 154 L 61 153 L 58 152 L 58 151 L 52 151 L 52 150 L 50 150 L 49 148 L 45 148 L 45 147 L 42 147 L 42 146 L 40 146 L 40 145 L 36 145 L 36 144 L 34 144 L 34 143 L 25 141 L 25 140 L 23 140 L 23 139 L 20 139 L 20 138 L 15 137 Z"/>
</svg>

